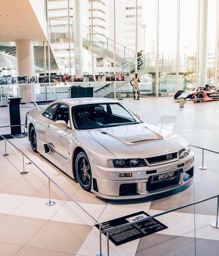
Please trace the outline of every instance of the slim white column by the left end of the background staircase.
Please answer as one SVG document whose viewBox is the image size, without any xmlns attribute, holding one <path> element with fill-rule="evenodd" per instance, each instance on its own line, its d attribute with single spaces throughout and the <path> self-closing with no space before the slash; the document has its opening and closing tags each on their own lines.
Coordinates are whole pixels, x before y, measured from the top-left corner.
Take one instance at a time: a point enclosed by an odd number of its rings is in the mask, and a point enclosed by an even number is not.
<svg viewBox="0 0 219 256">
<path fill-rule="evenodd" d="M 82 13 L 81 1 L 74 0 L 74 55 L 75 55 L 75 75 L 83 74 L 82 66 Z"/>
</svg>

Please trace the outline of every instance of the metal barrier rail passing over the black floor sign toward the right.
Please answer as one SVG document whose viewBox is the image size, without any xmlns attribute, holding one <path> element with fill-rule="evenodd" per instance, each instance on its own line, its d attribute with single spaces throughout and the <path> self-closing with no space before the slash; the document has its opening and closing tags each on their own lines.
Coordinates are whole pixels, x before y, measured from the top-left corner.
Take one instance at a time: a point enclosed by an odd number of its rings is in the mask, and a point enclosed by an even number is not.
<svg viewBox="0 0 219 256">
<path fill-rule="evenodd" d="M 107 232 L 110 232 L 110 231 L 113 231 L 113 230 L 116 230 L 116 229 L 119 229 L 119 228 L 127 227 L 127 226 L 130 226 L 132 224 L 142 222 L 144 220 L 149 220 L 149 219 L 159 217 L 159 216 L 167 214 L 167 213 L 175 212 L 177 210 L 180 210 L 180 209 L 183 209 L 183 208 L 186 208 L 186 207 L 189 207 L 189 206 L 193 206 L 193 205 L 196 205 L 196 204 L 200 204 L 200 203 L 203 203 L 205 201 L 214 199 L 216 197 L 218 198 L 218 203 L 219 203 L 219 195 L 216 195 L 216 196 L 213 196 L 213 197 L 208 197 L 206 199 L 203 199 L 203 200 L 200 200 L 200 201 L 197 201 L 197 202 L 194 202 L 194 203 L 190 203 L 190 204 L 187 204 L 187 205 L 183 205 L 183 206 L 180 206 L 180 207 L 177 207 L 177 208 L 173 208 L 171 210 L 168 210 L 168 211 L 165 211 L 165 212 L 162 212 L 162 213 L 158 213 L 158 214 L 155 214 L 155 215 L 152 215 L 152 216 L 149 216 L 149 217 L 145 217 L 145 218 L 142 218 L 142 219 L 139 219 L 139 220 L 136 220 L 136 221 L 132 221 L 132 222 L 129 222 L 129 223 L 125 223 L 125 224 L 116 226 L 116 227 L 112 227 L 112 228 L 102 230 L 101 233 L 104 234 L 104 233 L 107 233 Z M 217 222 L 218 222 L 218 212 L 217 212 Z"/>
</svg>

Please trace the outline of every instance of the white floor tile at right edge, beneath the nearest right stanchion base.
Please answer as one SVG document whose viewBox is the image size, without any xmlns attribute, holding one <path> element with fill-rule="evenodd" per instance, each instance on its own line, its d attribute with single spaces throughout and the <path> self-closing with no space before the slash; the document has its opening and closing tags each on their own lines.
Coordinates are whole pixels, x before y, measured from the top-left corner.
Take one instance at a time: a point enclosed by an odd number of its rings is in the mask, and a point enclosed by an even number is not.
<svg viewBox="0 0 219 256">
<path fill-rule="evenodd" d="M 212 221 L 216 216 L 195 214 L 195 237 L 219 241 L 219 229 L 211 227 Z"/>
</svg>

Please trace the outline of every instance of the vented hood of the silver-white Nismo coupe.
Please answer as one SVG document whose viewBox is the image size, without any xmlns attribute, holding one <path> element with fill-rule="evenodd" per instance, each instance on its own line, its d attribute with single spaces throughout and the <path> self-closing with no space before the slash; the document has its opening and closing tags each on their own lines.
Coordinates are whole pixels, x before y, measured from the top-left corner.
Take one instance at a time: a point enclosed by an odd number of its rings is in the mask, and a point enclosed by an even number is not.
<svg viewBox="0 0 219 256">
<path fill-rule="evenodd" d="M 145 158 L 179 151 L 188 143 L 180 136 L 148 124 L 81 130 L 118 158 Z"/>
</svg>

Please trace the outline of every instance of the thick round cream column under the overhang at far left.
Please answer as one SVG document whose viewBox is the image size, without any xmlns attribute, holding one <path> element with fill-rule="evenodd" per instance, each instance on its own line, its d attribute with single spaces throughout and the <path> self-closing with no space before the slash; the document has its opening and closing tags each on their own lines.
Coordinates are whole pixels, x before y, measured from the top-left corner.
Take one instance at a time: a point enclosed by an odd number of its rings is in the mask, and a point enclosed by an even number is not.
<svg viewBox="0 0 219 256">
<path fill-rule="evenodd" d="M 31 40 L 16 40 L 16 58 L 18 76 L 33 76 L 34 55 Z M 18 96 L 25 103 L 34 101 L 32 84 L 18 84 Z"/>
</svg>

